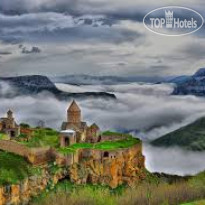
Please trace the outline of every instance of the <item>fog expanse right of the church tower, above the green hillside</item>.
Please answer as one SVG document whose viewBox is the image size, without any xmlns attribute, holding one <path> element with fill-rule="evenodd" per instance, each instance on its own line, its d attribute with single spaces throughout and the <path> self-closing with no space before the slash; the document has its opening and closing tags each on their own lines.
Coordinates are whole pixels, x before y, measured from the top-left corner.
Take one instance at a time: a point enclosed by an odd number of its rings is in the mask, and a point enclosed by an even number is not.
<svg viewBox="0 0 205 205">
<path fill-rule="evenodd" d="M 116 101 L 101 99 L 80 102 L 88 121 L 103 129 L 131 131 L 151 140 L 205 116 L 205 99 L 173 96 L 171 84 L 125 84 L 73 86 L 57 84 L 67 92 L 102 91 L 114 93 Z"/>
</svg>

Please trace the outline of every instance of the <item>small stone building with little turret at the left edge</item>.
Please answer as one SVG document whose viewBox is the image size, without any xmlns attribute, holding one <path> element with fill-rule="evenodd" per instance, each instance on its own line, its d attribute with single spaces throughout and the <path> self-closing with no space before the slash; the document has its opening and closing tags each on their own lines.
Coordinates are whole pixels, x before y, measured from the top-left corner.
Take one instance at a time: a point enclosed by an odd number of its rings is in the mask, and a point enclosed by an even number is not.
<svg viewBox="0 0 205 205">
<path fill-rule="evenodd" d="M 11 139 L 19 136 L 20 126 L 16 123 L 11 110 L 7 112 L 7 117 L 0 119 L 0 131 L 7 134 Z"/>
</svg>

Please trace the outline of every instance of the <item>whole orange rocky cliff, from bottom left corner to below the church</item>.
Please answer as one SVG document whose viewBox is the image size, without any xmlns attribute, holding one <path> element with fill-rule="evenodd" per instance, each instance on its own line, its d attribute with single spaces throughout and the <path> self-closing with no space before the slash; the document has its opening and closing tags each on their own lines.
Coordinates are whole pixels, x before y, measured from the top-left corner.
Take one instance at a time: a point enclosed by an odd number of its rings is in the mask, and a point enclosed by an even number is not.
<svg viewBox="0 0 205 205">
<path fill-rule="evenodd" d="M 36 167 L 36 173 L 18 184 L 0 187 L 0 205 L 29 204 L 32 197 L 52 189 L 59 180 L 70 179 L 75 184 L 101 184 L 115 188 L 121 184 L 133 185 L 145 175 L 142 145 L 117 150 L 81 149 L 70 166 L 56 162 Z M 68 157 L 65 156 L 65 157 Z"/>
</svg>

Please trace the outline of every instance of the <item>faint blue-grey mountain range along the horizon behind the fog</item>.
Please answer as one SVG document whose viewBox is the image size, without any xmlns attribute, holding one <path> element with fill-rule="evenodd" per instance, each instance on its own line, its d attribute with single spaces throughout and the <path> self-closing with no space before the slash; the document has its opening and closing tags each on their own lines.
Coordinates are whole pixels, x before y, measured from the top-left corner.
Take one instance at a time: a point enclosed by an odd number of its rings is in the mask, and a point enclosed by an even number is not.
<svg viewBox="0 0 205 205">
<path fill-rule="evenodd" d="M 64 83 L 71 85 L 116 85 L 125 83 L 157 83 L 164 81 L 158 76 L 91 76 L 91 75 L 66 75 L 50 77 L 54 83 Z"/>
</svg>

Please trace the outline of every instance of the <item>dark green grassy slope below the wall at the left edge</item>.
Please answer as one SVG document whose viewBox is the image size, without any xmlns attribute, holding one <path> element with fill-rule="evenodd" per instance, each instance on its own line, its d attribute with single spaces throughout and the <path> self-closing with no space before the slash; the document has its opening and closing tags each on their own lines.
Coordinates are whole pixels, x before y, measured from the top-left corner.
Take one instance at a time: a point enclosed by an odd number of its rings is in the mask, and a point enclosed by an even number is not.
<svg viewBox="0 0 205 205">
<path fill-rule="evenodd" d="M 30 174 L 30 168 L 23 157 L 0 151 L 0 185 L 18 183 Z"/>
</svg>

